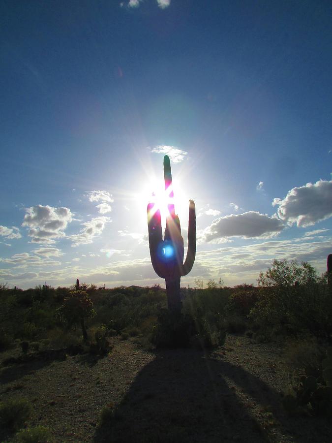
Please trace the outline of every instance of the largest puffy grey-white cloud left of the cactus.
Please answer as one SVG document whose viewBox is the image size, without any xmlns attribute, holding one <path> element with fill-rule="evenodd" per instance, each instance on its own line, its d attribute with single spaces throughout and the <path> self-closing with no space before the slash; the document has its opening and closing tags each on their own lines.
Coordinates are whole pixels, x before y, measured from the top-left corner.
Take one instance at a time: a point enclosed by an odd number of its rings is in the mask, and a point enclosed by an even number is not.
<svg viewBox="0 0 332 443">
<path fill-rule="evenodd" d="M 72 221 L 68 208 L 36 205 L 26 208 L 22 226 L 29 227 L 31 243 L 54 243 L 54 239 L 65 237 L 64 229 Z"/>
</svg>

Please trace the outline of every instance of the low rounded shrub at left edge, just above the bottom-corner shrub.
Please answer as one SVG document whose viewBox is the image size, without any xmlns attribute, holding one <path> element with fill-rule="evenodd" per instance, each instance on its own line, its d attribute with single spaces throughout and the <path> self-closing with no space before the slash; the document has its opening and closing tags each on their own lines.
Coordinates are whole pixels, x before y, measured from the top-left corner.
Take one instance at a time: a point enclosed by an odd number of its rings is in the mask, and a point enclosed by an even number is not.
<svg viewBox="0 0 332 443">
<path fill-rule="evenodd" d="M 0 425 L 16 431 L 28 420 L 32 411 L 30 402 L 25 398 L 13 398 L 0 403 Z"/>
</svg>

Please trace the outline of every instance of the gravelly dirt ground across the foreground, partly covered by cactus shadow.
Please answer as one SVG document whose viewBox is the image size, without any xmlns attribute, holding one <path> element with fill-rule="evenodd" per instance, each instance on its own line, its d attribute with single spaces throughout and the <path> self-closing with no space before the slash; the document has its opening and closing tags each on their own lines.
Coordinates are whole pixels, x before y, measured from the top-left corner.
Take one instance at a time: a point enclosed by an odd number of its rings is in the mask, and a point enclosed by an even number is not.
<svg viewBox="0 0 332 443">
<path fill-rule="evenodd" d="M 332 430 L 324 420 L 288 417 L 281 349 L 236 335 L 209 354 L 153 353 L 115 340 L 104 358 L 16 364 L 3 367 L 0 380 L 0 401 L 28 398 L 28 424 L 49 427 L 56 442 L 324 443 Z M 114 414 L 99 429 L 105 405 Z"/>
</svg>

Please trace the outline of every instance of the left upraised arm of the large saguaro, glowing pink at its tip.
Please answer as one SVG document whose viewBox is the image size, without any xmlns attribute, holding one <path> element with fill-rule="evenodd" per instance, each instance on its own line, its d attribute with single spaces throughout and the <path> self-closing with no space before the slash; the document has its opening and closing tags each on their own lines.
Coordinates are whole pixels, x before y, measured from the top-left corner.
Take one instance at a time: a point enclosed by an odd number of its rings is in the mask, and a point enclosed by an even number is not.
<svg viewBox="0 0 332 443">
<path fill-rule="evenodd" d="M 161 216 L 160 211 L 155 211 L 154 203 L 148 204 L 148 231 L 149 231 L 149 247 L 151 263 L 155 273 L 165 278 L 164 270 L 162 269 L 161 262 L 158 259 L 158 249 L 163 243 L 162 229 L 161 229 Z"/>
</svg>

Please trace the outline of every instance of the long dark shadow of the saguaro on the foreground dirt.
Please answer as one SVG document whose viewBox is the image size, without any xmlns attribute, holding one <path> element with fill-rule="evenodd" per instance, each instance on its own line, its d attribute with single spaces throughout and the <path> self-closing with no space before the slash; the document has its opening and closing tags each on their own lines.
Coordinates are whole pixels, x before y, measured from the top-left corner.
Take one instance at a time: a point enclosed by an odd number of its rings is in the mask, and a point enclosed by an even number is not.
<svg viewBox="0 0 332 443">
<path fill-rule="evenodd" d="M 307 418 L 294 423 L 287 417 L 278 392 L 218 357 L 193 349 L 157 352 L 107 423 L 97 428 L 94 442 L 269 442 L 264 420 L 250 411 L 252 404 L 272 411 L 285 441 L 324 441 L 297 431 Z M 248 404 L 241 390 L 250 397 Z"/>
</svg>

